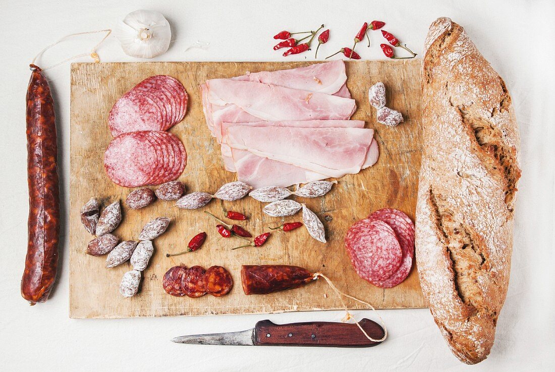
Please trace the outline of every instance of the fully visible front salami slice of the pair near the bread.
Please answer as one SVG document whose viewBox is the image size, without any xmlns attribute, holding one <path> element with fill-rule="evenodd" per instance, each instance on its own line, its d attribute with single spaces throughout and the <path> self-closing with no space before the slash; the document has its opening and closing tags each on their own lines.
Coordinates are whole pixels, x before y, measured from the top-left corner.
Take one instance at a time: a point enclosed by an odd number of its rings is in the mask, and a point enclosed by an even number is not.
<svg viewBox="0 0 555 372">
<path fill-rule="evenodd" d="M 395 231 L 382 221 L 356 222 L 347 231 L 345 248 L 356 273 L 369 282 L 387 279 L 401 265 L 402 251 Z"/>
</svg>

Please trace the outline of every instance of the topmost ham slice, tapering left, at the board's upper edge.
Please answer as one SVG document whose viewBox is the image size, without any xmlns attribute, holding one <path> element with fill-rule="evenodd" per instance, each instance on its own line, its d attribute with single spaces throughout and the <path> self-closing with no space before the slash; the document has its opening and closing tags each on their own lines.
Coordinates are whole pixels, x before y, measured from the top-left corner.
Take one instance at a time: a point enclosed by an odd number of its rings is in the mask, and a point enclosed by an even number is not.
<svg viewBox="0 0 555 372">
<path fill-rule="evenodd" d="M 315 63 L 306 67 L 299 67 L 278 71 L 263 71 L 247 73 L 246 75 L 232 78 L 232 80 L 254 81 L 256 83 L 285 86 L 291 89 L 309 90 L 325 94 L 336 94 L 342 90 L 345 96 L 345 63 L 334 60 L 325 63 Z M 347 89 L 347 92 L 349 90 Z M 351 95 L 349 94 L 349 97 Z"/>
</svg>

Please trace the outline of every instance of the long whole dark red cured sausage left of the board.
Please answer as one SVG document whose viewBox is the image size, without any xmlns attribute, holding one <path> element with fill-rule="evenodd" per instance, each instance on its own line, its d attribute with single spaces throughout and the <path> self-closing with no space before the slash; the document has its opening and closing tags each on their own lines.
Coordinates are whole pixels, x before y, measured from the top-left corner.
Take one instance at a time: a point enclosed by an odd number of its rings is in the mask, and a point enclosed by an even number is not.
<svg viewBox="0 0 555 372">
<path fill-rule="evenodd" d="M 54 103 L 42 70 L 31 65 L 27 88 L 29 241 L 21 295 L 31 305 L 48 299 L 58 269 L 59 191 Z"/>
</svg>

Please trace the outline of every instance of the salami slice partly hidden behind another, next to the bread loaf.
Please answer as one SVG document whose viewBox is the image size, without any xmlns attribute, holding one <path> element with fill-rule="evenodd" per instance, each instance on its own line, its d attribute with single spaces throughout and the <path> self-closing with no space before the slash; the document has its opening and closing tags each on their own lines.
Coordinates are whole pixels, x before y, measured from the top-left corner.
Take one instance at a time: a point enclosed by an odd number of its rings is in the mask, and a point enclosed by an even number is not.
<svg viewBox="0 0 555 372">
<path fill-rule="evenodd" d="M 414 258 L 415 249 L 415 226 L 405 213 L 391 208 L 372 213 L 369 220 L 379 220 L 387 223 L 393 231 L 401 245 L 403 258 L 401 266 L 387 279 L 381 281 L 372 281 L 376 287 L 391 288 L 402 283 L 411 271 L 412 259 Z"/>
</svg>

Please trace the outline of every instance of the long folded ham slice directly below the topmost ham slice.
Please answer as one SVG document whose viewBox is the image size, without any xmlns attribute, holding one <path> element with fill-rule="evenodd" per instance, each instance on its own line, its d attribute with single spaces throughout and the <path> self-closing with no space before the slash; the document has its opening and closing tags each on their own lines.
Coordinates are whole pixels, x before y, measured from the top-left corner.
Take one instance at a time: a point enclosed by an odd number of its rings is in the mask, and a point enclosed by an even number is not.
<svg viewBox="0 0 555 372">
<path fill-rule="evenodd" d="M 229 79 L 206 81 L 212 105 L 235 104 L 261 120 L 346 120 L 356 110 L 354 99 Z"/>
</svg>

